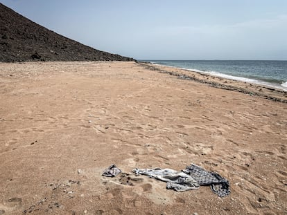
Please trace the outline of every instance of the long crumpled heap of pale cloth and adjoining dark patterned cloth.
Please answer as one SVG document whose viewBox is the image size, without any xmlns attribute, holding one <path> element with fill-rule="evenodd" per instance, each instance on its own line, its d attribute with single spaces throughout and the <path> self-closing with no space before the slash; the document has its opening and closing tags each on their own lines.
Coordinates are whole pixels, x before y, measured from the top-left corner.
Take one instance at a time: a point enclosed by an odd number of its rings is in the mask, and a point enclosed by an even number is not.
<svg viewBox="0 0 287 215">
<path fill-rule="evenodd" d="M 133 169 L 135 174 L 142 174 L 166 182 L 166 189 L 186 191 L 198 189 L 200 185 L 210 185 L 210 188 L 219 197 L 230 194 L 229 182 L 215 172 L 206 171 L 197 165 L 191 164 L 182 171 L 173 169 Z"/>
</svg>

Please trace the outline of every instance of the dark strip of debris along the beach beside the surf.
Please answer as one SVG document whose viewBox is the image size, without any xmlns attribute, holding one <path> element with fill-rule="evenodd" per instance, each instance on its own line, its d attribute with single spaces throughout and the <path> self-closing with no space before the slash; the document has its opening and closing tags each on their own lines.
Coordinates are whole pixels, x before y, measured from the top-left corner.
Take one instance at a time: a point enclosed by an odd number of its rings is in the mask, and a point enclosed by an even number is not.
<svg viewBox="0 0 287 215">
<path fill-rule="evenodd" d="M 217 83 L 217 82 L 211 82 L 211 81 L 207 81 L 207 80 L 200 80 L 200 79 L 198 79 L 196 77 L 193 77 L 193 76 L 190 76 L 190 75 L 181 75 L 181 74 L 178 74 L 176 72 L 165 71 L 163 69 L 157 68 L 155 66 L 152 66 L 152 65 L 144 63 L 144 62 L 139 62 L 139 65 L 141 65 L 144 68 L 147 68 L 148 70 L 151 70 L 151 71 L 158 71 L 159 73 L 166 73 L 168 75 L 176 76 L 176 77 L 178 77 L 178 78 L 180 78 L 182 80 L 193 80 L 195 82 L 200 82 L 202 84 L 209 84 L 209 86 L 213 86 L 215 88 L 221 88 L 221 89 L 224 89 L 224 90 L 227 90 L 227 91 L 236 91 L 236 92 L 239 92 L 239 93 L 245 93 L 245 94 L 249 94 L 249 95 L 256 95 L 256 96 L 263 97 L 265 99 L 272 100 L 272 101 L 275 101 L 275 102 L 287 103 L 287 100 L 284 100 L 284 99 L 281 99 L 281 98 L 278 98 L 278 97 L 273 97 L 273 96 L 270 96 L 270 95 L 266 95 L 264 93 L 258 93 L 258 92 L 254 92 L 254 91 L 247 91 L 245 88 L 241 88 L 241 87 L 230 86 L 230 85 L 227 85 L 227 84 L 220 84 L 220 83 Z M 200 73 L 200 74 L 204 75 L 202 73 Z M 268 89 L 270 91 L 277 91 L 276 89 L 269 88 L 269 87 L 262 86 L 262 88 L 266 88 L 266 89 Z M 282 93 L 282 94 L 284 94 L 285 97 L 287 97 L 287 92 L 284 92 L 284 91 L 277 91 L 277 92 L 278 93 Z"/>
</svg>

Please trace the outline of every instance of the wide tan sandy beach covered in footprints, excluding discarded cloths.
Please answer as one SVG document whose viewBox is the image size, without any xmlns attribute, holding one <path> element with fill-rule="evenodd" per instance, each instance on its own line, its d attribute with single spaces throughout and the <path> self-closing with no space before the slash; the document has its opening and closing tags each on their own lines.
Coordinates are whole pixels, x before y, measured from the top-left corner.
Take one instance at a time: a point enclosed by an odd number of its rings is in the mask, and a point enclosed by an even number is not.
<svg viewBox="0 0 287 215">
<path fill-rule="evenodd" d="M 0 93 L 0 214 L 287 213 L 286 93 L 134 62 L 2 63 Z M 232 193 L 131 173 L 191 163 Z"/>
</svg>

